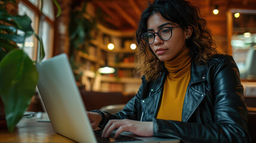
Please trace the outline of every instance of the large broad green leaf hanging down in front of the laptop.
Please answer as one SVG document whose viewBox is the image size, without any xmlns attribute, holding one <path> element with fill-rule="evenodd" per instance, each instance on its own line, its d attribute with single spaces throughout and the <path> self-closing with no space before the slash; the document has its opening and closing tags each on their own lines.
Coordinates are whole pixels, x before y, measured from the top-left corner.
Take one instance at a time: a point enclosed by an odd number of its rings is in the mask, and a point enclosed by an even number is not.
<svg viewBox="0 0 256 143">
<path fill-rule="evenodd" d="M 0 63 L 0 95 L 8 130 L 13 132 L 35 94 L 38 71 L 20 49 L 8 52 Z"/>
</svg>

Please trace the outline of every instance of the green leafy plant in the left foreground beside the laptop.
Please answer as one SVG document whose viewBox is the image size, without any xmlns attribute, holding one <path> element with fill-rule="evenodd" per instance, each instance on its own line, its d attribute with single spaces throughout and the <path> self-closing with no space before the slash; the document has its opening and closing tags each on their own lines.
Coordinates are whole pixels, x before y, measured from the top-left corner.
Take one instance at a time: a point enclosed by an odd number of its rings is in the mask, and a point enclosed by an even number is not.
<svg viewBox="0 0 256 143">
<path fill-rule="evenodd" d="M 60 9 L 57 2 L 53 1 Z M 30 18 L 27 15 L 11 15 L 5 10 L 8 2 L 16 4 L 16 1 L 0 2 L 0 96 L 8 130 L 13 132 L 35 94 L 38 71 L 33 63 L 41 61 L 45 53 L 42 39 L 33 31 Z M 24 46 L 25 39 L 32 35 L 39 41 L 39 61 L 32 61 L 23 47 L 17 46 L 17 43 Z"/>
</svg>

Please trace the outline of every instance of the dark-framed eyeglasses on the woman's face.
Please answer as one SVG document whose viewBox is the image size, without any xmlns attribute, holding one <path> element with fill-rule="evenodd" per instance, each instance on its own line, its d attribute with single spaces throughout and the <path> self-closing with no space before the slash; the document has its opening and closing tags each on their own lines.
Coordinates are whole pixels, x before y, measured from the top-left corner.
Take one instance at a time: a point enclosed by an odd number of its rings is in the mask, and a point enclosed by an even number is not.
<svg viewBox="0 0 256 143">
<path fill-rule="evenodd" d="M 174 26 L 174 27 L 162 27 L 161 29 L 158 30 L 158 32 L 146 32 L 141 35 L 141 38 L 144 39 L 144 41 L 148 44 L 152 44 L 155 41 L 156 35 L 159 36 L 163 41 L 168 41 L 171 39 L 172 36 L 172 29 L 178 28 L 180 26 Z"/>
</svg>

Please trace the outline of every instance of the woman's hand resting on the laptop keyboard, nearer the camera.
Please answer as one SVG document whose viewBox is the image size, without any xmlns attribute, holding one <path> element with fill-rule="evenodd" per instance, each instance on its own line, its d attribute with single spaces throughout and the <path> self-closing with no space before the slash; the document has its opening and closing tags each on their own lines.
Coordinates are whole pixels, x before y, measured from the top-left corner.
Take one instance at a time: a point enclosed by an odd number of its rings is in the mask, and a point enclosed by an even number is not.
<svg viewBox="0 0 256 143">
<path fill-rule="evenodd" d="M 116 130 L 115 138 L 122 132 L 132 132 L 139 136 L 153 136 L 153 122 L 139 122 L 135 120 L 109 120 L 105 126 L 102 137 L 107 138 L 113 130 Z"/>
</svg>

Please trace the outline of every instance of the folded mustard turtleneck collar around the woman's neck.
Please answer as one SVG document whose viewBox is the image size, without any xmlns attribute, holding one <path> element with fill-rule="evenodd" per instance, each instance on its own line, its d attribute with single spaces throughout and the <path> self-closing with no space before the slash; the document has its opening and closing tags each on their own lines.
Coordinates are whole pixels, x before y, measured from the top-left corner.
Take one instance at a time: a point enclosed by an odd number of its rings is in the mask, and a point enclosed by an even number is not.
<svg viewBox="0 0 256 143">
<path fill-rule="evenodd" d="M 165 67 L 169 71 L 169 76 L 173 78 L 181 77 L 187 71 L 190 71 L 190 49 L 184 48 L 184 50 L 178 55 L 178 57 L 165 61 Z"/>
</svg>

